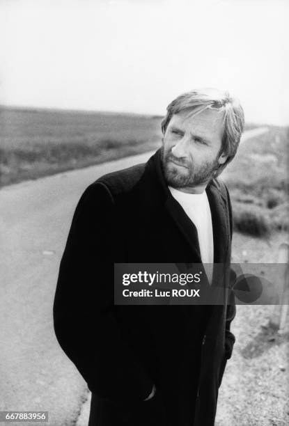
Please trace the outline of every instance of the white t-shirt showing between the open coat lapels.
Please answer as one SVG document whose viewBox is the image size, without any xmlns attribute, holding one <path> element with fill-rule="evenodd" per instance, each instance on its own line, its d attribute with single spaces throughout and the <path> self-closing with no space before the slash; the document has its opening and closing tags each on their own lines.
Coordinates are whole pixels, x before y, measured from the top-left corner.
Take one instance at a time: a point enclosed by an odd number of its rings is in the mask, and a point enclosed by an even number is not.
<svg viewBox="0 0 289 426">
<path fill-rule="evenodd" d="M 201 251 L 201 260 L 205 265 L 205 271 L 209 282 L 212 281 L 212 265 L 214 263 L 214 239 L 212 232 L 212 216 L 206 191 L 202 194 L 187 194 L 178 189 L 169 187 L 171 195 L 180 203 L 189 219 L 198 231 L 198 244 Z"/>
</svg>

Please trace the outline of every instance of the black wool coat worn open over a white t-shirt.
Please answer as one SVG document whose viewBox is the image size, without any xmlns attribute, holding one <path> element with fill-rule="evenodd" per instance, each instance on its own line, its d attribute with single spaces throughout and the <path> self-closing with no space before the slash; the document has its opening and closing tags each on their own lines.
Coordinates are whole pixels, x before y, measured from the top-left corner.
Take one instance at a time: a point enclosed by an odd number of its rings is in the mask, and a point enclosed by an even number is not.
<svg viewBox="0 0 289 426">
<path fill-rule="evenodd" d="M 229 265 L 228 190 L 218 179 L 205 190 L 214 263 Z M 171 196 L 160 150 L 146 164 L 102 176 L 81 196 L 59 269 L 54 329 L 93 395 L 130 418 L 124 424 L 143 424 L 132 420 L 134 407 L 146 409 L 155 384 L 159 426 L 214 425 L 235 342 L 232 295 L 219 306 L 115 306 L 114 262 L 201 263 L 196 227 Z"/>
</svg>

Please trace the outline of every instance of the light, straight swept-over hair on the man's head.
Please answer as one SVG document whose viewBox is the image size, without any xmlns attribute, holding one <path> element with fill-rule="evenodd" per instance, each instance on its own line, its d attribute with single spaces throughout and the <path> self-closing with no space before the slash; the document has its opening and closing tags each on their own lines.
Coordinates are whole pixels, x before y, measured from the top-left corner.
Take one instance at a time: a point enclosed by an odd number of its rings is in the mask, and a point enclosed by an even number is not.
<svg viewBox="0 0 289 426">
<path fill-rule="evenodd" d="M 192 115 L 196 115 L 206 109 L 217 109 L 220 113 L 224 113 L 223 136 L 219 155 L 228 155 L 228 158 L 224 164 L 219 165 L 214 173 L 214 176 L 217 177 L 235 157 L 244 132 L 244 111 L 237 98 L 231 97 L 227 91 L 212 88 L 183 93 L 166 108 L 166 116 L 162 120 L 162 133 L 165 134 L 166 127 L 168 127 L 173 114 L 181 111 L 192 111 Z"/>
</svg>

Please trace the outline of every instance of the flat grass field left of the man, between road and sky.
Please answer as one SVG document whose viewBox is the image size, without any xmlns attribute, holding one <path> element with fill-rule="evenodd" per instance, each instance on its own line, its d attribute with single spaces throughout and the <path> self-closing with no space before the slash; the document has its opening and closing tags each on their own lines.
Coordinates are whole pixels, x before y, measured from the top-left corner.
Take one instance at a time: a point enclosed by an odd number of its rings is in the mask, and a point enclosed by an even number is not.
<svg viewBox="0 0 289 426">
<path fill-rule="evenodd" d="M 161 118 L 1 109 L 0 187 L 159 146 Z"/>
</svg>

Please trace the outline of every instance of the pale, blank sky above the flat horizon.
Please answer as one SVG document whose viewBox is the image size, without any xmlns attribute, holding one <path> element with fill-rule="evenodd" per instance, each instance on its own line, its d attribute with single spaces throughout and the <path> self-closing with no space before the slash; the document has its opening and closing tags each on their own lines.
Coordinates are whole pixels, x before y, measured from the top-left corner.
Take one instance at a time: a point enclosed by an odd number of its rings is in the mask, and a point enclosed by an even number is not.
<svg viewBox="0 0 289 426">
<path fill-rule="evenodd" d="M 289 124 L 287 0 L 0 0 L 0 104 L 164 115 L 217 87 Z"/>
</svg>

